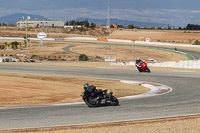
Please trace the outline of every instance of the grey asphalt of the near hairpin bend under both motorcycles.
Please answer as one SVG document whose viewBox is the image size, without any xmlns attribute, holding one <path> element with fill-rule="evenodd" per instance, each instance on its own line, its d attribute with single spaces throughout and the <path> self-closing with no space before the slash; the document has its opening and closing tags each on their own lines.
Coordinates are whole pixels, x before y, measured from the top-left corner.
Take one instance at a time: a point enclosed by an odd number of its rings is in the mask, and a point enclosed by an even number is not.
<svg viewBox="0 0 200 133">
<path fill-rule="evenodd" d="M 122 100 L 121 106 L 88 108 L 85 104 L 0 109 L 0 130 L 25 129 L 147 120 L 200 114 L 200 73 L 182 71 L 73 68 L 0 65 L 0 73 L 147 81 L 167 85 L 173 91 L 154 97 Z M 116 86 L 117 87 L 117 86 Z M 81 93 L 80 92 L 77 93 Z M 1 94 L 2 95 L 2 94 Z"/>
</svg>

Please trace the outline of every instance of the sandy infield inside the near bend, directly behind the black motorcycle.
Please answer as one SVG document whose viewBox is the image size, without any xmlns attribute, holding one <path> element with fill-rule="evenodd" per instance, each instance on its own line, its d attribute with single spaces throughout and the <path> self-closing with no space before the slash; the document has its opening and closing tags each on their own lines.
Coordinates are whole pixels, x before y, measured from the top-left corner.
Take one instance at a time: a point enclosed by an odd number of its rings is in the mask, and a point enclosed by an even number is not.
<svg viewBox="0 0 200 133">
<path fill-rule="evenodd" d="M 116 97 L 141 94 L 148 88 L 119 81 L 0 74 L 0 106 L 27 106 L 82 101 L 83 84 L 113 91 Z"/>
</svg>

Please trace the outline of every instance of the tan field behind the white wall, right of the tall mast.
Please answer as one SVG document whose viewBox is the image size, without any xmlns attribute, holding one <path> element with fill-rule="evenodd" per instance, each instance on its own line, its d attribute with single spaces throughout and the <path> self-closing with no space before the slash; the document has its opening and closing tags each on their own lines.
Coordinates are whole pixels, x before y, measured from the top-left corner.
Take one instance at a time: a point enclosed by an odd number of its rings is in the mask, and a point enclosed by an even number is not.
<svg viewBox="0 0 200 133">
<path fill-rule="evenodd" d="M 200 32 L 194 31 L 170 31 L 170 30 L 133 30 L 114 31 L 108 38 L 140 40 L 141 37 L 151 38 L 155 42 L 189 43 L 199 40 Z"/>
</svg>

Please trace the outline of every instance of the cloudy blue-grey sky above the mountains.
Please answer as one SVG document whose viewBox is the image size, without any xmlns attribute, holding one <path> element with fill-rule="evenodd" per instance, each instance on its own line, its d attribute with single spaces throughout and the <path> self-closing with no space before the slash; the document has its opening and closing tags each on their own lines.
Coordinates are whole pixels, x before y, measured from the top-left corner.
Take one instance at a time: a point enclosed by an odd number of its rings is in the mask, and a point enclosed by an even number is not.
<svg viewBox="0 0 200 133">
<path fill-rule="evenodd" d="M 51 20 L 80 17 L 156 22 L 185 27 L 200 24 L 200 0 L 0 0 L 0 16 L 38 14 Z"/>
</svg>

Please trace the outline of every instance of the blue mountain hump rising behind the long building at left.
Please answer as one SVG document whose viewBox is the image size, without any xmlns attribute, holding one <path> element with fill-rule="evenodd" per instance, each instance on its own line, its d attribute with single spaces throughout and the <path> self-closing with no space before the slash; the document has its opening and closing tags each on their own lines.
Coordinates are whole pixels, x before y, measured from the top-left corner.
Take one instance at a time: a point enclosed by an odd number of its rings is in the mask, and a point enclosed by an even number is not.
<svg viewBox="0 0 200 133">
<path fill-rule="evenodd" d="M 35 15 L 35 14 L 25 14 L 25 13 L 17 13 L 17 14 L 11 14 L 7 16 L 0 17 L 0 23 L 5 23 L 5 24 L 16 24 L 17 21 L 22 20 L 22 16 L 26 19 L 27 16 L 31 17 L 31 20 L 44 20 L 44 21 L 49 21 L 48 18 L 45 18 L 40 15 Z"/>
</svg>

